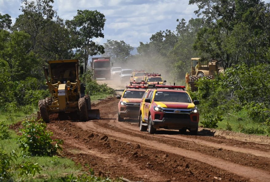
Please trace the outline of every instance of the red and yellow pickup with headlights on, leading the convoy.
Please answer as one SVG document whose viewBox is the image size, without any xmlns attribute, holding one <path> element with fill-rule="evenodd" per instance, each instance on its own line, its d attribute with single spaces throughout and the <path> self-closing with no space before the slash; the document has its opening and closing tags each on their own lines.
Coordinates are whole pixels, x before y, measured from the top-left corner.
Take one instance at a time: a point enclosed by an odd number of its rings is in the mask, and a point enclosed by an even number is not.
<svg viewBox="0 0 270 182">
<path fill-rule="evenodd" d="M 150 134 L 156 129 L 177 129 L 184 133 L 188 129 L 191 134 L 198 133 L 199 111 L 185 91 L 185 86 L 155 85 L 155 89 L 147 90 L 142 99 L 139 113 L 140 131 Z"/>
</svg>

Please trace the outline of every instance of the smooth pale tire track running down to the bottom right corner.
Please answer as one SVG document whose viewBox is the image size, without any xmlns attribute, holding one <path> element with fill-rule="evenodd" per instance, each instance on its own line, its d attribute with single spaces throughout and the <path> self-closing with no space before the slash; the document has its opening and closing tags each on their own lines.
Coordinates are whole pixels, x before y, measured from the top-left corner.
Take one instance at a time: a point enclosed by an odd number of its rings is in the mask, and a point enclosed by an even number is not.
<svg viewBox="0 0 270 182">
<path fill-rule="evenodd" d="M 91 130 L 93 129 L 93 126 L 90 126 L 92 124 L 93 123 L 91 123 L 91 122 L 76 123 L 76 125 L 78 125 L 79 127 L 83 126 L 84 129 L 91 129 Z M 95 126 L 94 126 L 94 129 L 95 129 Z M 242 177 L 245 177 L 245 178 L 248 178 L 251 180 L 263 181 L 263 182 L 268 182 L 270 180 L 270 172 L 242 166 L 242 165 L 235 164 L 235 163 L 232 163 L 232 162 L 229 162 L 226 160 L 222 160 L 222 159 L 217 159 L 215 157 L 211 157 L 209 155 L 202 154 L 200 152 L 194 152 L 191 150 L 185 150 L 183 148 L 172 147 L 170 145 L 160 143 L 157 141 L 153 141 L 153 140 L 146 140 L 145 141 L 145 140 L 142 140 L 142 138 L 140 138 L 140 137 L 123 134 L 123 133 L 120 133 L 117 131 L 110 131 L 106 128 L 100 128 L 99 132 L 101 132 L 101 130 L 102 130 L 102 133 L 114 136 L 114 137 L 118 138 L 118 140 L 121 139 L 121 141 L 124 141 L 124 142 L 136 142 L 136 143 L 144 145 L 145 147 L 149 147 L 152 149 L 156 149 L 156 150 L 160 150 L 160 151 L 164 151 L 164 152 L 169 152 L 169 153 L 184 156 L 187 158 L 199 160 L 200 162 L 221 168 L 223 170 L 226 170 L 228 172 L 237 174 L 239 176 L 242 176 Z"/>
</svg>

